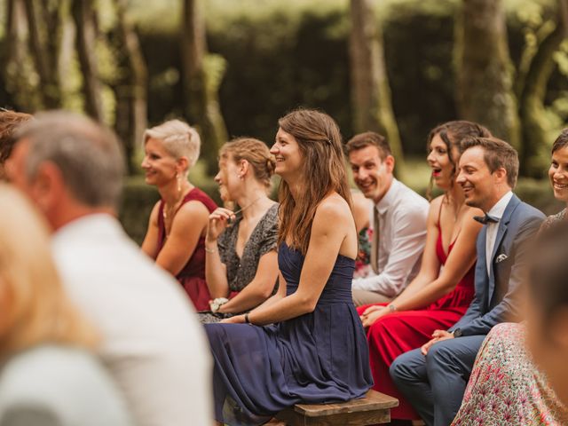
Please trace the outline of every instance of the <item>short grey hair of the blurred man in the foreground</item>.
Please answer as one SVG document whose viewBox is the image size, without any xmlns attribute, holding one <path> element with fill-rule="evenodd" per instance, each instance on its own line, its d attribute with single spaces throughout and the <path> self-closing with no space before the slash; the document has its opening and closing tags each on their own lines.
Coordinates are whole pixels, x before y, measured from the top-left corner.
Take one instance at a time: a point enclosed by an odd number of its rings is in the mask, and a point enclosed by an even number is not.
<svg viewBox="0 0 568 426">
<path fill-rule="evenodd" d="M 77 201 L 90 207 L 117 206 L 125 168 L 112 130 L 83 115 L 53 111 L 37 114 L 16 136 L 29 144 L 28 179 L 36 177 L 43 162 L 52 162 Z"/>
</svg>

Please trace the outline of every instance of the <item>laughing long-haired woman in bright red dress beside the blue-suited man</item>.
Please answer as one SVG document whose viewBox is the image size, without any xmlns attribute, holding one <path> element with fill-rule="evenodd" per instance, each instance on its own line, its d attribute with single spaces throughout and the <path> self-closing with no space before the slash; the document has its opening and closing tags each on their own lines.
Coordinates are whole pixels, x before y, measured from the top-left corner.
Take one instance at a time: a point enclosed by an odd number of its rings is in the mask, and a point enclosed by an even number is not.
<svg viewBox="0 0 568 426">
<path fill-rule="evenodd" d="M 490 133 L 473 122 L 446 122 L 430 131 L 428 162 L 432 180 L 444 191 L 430 203 L 426 247 L 416 278 L 390 304 L 360 306 L 367 327 L 371 371 L 375 390 L 399 399 L 393 419 L 418 419 L 410 404 L 390 380 L 389 367 L 398 355 L 419 348 L 437 329 L 454 325 L 467 311 L 474 296 L 476 239 L 481 215 L 464 202 L 455 185 L 461 140 Z"/>
</svg>

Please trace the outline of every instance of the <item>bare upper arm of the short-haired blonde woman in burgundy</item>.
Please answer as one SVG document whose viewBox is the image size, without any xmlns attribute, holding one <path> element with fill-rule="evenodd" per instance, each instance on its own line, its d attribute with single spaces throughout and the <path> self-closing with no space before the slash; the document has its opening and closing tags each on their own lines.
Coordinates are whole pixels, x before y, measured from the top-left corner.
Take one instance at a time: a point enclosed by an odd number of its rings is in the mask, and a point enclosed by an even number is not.
<svg viewBox="0 0 568 426">
<path fill-rule="evenodd" d="M 200 201 L 186 202 L 174 217 L 170 235 L 156 258 L 156 264 L 177 275 L 193 255 L 208 217 L 209 210 Z"/>
</svg>

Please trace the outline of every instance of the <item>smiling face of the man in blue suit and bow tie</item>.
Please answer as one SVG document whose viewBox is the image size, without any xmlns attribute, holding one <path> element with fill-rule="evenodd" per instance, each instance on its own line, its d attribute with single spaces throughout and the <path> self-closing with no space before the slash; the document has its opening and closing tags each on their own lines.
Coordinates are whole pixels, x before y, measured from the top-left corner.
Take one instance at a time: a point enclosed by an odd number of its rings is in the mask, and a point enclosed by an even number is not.
<svg viewBox="0 0 568 426">
<path fill-rule="evenodd" d="M 465 150 L 460 158 L 460 173 L 456 178 L 463 188 L 465 203 L 483 211 L 489 211 L 501 198 L 498 188 L 506 180 L 504 170 L 489 170 L 485 162 L 485 150 L 473 146 Z"/>
</svg>

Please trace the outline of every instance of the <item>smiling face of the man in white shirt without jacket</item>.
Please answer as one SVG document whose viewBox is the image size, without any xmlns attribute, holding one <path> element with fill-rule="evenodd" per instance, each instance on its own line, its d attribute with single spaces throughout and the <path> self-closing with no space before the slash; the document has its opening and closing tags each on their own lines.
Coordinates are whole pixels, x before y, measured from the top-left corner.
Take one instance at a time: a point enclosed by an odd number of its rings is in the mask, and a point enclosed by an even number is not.
<svg viewBox="0 0 568 426">
<path fill-rule="evenodd" d="M 365 146 L 351 151 L 349 162 L 353 172 L 353 180 L 361 192 L 375 203 L 381 201 L 392 183 L 394 158 L 387 155 L 381 160 L 379 148 Z"/>
</svg>

